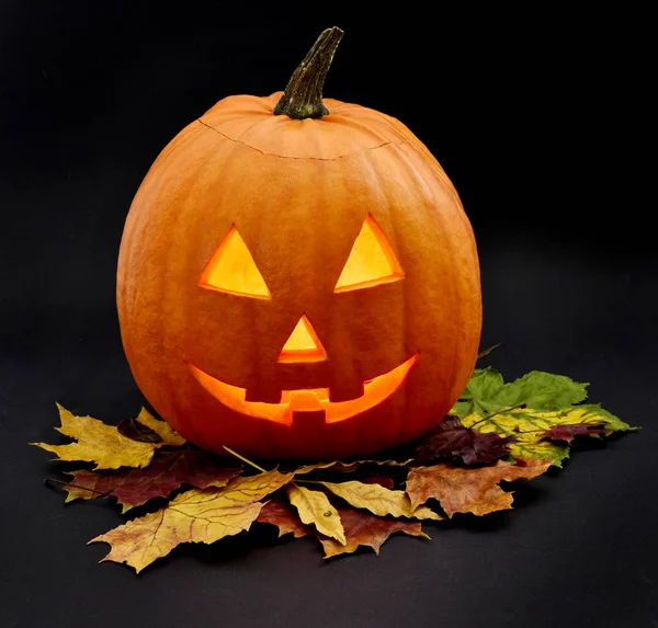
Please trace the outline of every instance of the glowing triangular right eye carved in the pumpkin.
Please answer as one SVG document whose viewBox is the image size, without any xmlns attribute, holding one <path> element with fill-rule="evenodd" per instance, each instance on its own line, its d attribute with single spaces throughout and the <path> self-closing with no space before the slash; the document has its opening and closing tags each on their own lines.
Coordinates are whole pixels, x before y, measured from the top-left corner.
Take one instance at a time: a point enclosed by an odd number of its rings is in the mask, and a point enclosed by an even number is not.
<svg viewBox="0 0 658 628">
<path fill-rule="evenodd" d="M 397 282 L 405 276 L 384 231 L 371 214 L 356 236 L 350 256 L 336 284 L 334 293 L 370 288 Z"/>
</svg>

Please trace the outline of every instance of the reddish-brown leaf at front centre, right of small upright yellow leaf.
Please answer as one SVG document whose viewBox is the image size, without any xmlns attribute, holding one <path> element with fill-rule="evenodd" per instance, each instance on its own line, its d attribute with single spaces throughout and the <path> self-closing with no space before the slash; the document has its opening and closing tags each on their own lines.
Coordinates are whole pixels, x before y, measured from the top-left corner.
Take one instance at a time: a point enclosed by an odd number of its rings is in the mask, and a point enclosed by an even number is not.
<svg viewBox="0 0 658 628">
<path fill-rule="evenodd" d="M 341 553 L 351 553 L 362 545 L 372 547 L 378 556 L 382 545 L 395 532 L 404 532 L 410 536 L 430 538 L 422 532 L 421 524 L 418 522 L 382 518 L 352 509 L 340 509 L 338 512 L 343 522 L 347 543 L 345 545 L 341 545 L 331 538 L 319 537 L 325 548 L 325 558 L 331 558 Z"/>
</svg>

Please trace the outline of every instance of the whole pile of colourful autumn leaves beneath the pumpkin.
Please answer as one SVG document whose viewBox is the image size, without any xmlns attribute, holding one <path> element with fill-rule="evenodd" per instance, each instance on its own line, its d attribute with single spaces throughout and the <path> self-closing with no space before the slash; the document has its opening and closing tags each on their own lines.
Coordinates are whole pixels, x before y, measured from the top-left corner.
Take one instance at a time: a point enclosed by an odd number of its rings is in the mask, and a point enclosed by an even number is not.
<svg viewBox="0 0 658 628">
<path fill-rule="evenodd" d="M 67 502 L 114 498 L 122 513 L 139 513 L 90 541 L 110 544 L 103 560 L 137 572 L 182 543 L 211 544 L 253 523 L 316 537 L 327 558 L 360 546 L 378 553 L 395 532 L 429 538 L 421 522 L 512 507 L 499 483 L 561 467 L 575 436 L 633 430 L 582 404 L 586 388 L 541 372 L 504 384 L 497 370 L 478 369 L 445 421 L 402 459 L 264 469 L 229 449 L 238 466 L 188 444 L 146 410 L 114 426 L 59 406 L 58 431 L 75 441 L 35 445 L 58 460 L 95 464 L 49 480 Z"/>
</svg>

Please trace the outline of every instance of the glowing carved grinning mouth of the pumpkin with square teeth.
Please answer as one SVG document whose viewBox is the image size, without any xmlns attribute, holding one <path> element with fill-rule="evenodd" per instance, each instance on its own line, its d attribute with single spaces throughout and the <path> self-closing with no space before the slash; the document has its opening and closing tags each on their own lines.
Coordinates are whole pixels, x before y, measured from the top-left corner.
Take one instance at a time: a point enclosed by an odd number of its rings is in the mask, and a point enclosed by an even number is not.
<svg viewBox="0 0 658 628">
<path fill-rule="evenodd" d="M 418 354 L 393 370 L 364 381 L 363 395 L 356 399 L 330 401 L 328 388 L 313 388 L 282 390 L 280 403 L 247 401 L 246 388 L 226 384 L 193 364 L 189 364 L 189 366 L 198 382 L 227 408 L 247 416 L 292 425 L 295 412 L 325 412 L 326 423 L 337 423 L 378 406 L 400 388 L 417 359 Z"/>
</svg>

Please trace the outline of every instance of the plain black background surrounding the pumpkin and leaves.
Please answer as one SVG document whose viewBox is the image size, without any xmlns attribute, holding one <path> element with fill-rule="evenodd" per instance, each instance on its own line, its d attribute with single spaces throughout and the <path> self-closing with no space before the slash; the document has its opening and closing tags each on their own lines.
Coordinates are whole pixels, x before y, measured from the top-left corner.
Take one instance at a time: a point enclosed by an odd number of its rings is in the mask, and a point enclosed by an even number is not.
<svg viewBox="0 0 658 628">
<path fill-rule="evenodd" d="M 658 626 L 658 255 L 642 197 L 647 18 L 353 2 L 0 2 L 0 624 L 8 627 Z M 141 397 L 114 306 L 123 222 L 163 146 L 217 100 L 283 89 L 345 31 L 325 94 L 405 122 L 481 258 L 486 364 L 590 381 L 643 431 L 576 447 L 518 509 L 322 561 L 273 530 L 136 576 L 88 539 L 115 506 L 45 489 L 55 400 L 116 422 Z M 654 176 L 655 179 L 655 176 Z"/>
</svg>

